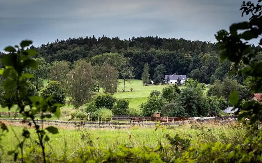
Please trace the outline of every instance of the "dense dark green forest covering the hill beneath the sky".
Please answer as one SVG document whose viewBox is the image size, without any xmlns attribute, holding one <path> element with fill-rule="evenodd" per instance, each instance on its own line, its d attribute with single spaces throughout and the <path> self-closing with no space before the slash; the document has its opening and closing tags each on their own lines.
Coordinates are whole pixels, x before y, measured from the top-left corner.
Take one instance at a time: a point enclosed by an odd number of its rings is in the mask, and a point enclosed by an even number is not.
<svg viewBox="0 0 262 163">
<path fill-rule="evenodd" d="M 252 47 L 254 50 L 259 48 Z M 120 40 L 118 37 L 86 36 L 56 40 L 30 48 L 37 50 L 36 58 L 42 57 L 47 63 L 68 61 L 71 69 L 73 63 L 79 59 L 90 61 L 98 55 L 117 53 L 134 68 L 135 79 L 141 79 L 144 64 L 148 63 L 149 79 L 158 81 L 159 76 L 164 80 L 164 74 L 186 74 L 193 79 L 199 79 L 201 83 L 213 83 L 215 79 L 222 80 L 229 71 L 245 66 L 242 64 L 236 68 L 229 61 L 220 63 L 216 43 L 182 38 L 147 36 Z M 119 78 L 122 78 L 120 73 Z M 243 83 L 243 80 L 237 80 Z"/>
</svg>

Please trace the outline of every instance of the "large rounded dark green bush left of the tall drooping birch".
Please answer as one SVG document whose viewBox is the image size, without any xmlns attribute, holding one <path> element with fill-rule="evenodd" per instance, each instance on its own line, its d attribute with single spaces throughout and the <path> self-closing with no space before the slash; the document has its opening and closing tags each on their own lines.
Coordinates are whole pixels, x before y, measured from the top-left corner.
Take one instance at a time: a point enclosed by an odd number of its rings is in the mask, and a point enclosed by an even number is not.
<svg viewBox="0 0 262 163">
<path fill-rule="evenodd" d="M 53 95 L 53 103 L 61 103 L 65 105 L 65 89 L 62 88 L 58 81 L 49 81 L 48 85 L 43 89 L 41 96 L 43 99 L 47 99 L 50 95 Z"/>
</svg>

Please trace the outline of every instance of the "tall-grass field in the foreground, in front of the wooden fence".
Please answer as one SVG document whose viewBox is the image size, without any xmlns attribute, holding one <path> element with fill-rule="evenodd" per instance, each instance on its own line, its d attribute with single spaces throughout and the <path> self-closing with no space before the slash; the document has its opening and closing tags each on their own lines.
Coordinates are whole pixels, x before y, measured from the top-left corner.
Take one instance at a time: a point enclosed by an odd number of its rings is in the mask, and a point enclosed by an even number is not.
<svg viewBox="0 0 262 163">
<path fill-rule="evenodd" d="M 14 150 L 18 142 L 17 138 L 15 138 L 15 134 L 21 138 L 20 135 L 23 130 L 23 127 L 13 125 L 14 124 L 9 124 L 8 128 L 10 131 L 6 133 L 1 140 L 1 144 L 3 145 L 5 151 L 4 158 L 7 158 L 8 160 L 12 159 L 12 157 L 7 156 L 7 151 Z M 199 126 L 199 124 L 195 125 Z M 189 135 L 191 135 L 193 141 L 199 142 L 202 140 L 197 138 L 197 135 L 201 131 L 198 129 L 191 129 L 191 126 L 195 127 L 195 125 L 186 124 L 182 126 L 174 126 L 172 129 L 166 127 L 164 131 L 162 131 L 161 128 L 155 131 L 155 128 L 146 129 L 138 127 L 133 127 L 131 129 L 81 129 L 81 131 L 78 131 L 77 128 L 60 128 L 58 134 L 48 134 L 51 142 L 50 146 L 47 145 L 47 150 L 52 152 L 54 151 L 57 154 L 63 154 L 66 143 L 66 152 L 68 154 L 72 154 L 75 150 L 87 145 L 87 140 L 81 140 L 81 135 L 83 133 L 84 135 L 90 134 L 90 138 L 94 142 L 95 146 L 103 146 L 112 149 L 116 148 L 119 144 L 126 144 L 128 146 L 138 146 L 142 144 L 156 146 L 158 141 L 165 144 L 167 142 L 166 138 L 164 138 L 166 134 L 170 134 L 170 136 L 179 134 L 182 137 L 188 138 Z M 215 135 L 218 140 L 223 139 L 220 135 L 227 137 L 235 136 L 235 130 L 230 126 L 214 124 L 208 124 L 205 126 L 207 129 L 212 129 L 211 135 Z M 15 131 L 15 133 L 12 130 Z M 34 130 L 29 129 L 29 131 L 32 135 L 31 138 L 27 139 L 25 142 L 25 148 L 30 147 L 36 139 Z M 203 140 L 208 141 L 206 137 Z"/>
</svg>

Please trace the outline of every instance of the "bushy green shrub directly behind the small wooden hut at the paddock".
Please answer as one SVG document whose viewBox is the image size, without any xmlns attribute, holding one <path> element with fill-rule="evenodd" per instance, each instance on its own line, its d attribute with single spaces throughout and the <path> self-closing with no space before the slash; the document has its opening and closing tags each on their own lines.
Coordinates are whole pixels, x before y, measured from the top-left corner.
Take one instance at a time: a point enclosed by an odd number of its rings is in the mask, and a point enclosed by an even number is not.
<svg viewBox="0 0 262 163">
<path fill-rule="evenodd" d="M 152 97 L 149 96 L 148 100 L 139 105 L 139 107 L 141 108 L 143 116 L 152 116 L 154 112 L 160 112 L 165 103 L 166 99 L 153 95 Z"/>
</svg>

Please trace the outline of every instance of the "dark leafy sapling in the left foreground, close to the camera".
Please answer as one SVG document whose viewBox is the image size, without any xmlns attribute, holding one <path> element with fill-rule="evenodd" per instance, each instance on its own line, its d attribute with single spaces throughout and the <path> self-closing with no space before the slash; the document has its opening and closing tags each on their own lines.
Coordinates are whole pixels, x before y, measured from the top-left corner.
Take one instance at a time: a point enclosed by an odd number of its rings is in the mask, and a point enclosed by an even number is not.
<svg viewBox="0 0 262 163">
<path fill-rule="evenodd" d="M 38 138 L 36 144 L 39 145 L 42 149 L 43 162 L 45 163 L 45 143 L 50 140 L 50 138 L 46 135 L 46 131 L 52 134 L 57 134 L 58 130 L 52 126 L 49 126 L 45 129 L 43 128 L 43 125 L 40 127 L 39 124 L 37 124 L 37 121 L 35 121 L 35 115 L 42 113 L 41 119 L 50 118 L 51 115 L 44 113 L 52 112 L 57 116 L 57 118 L 59 118 L 59 108 L 62 105 L 53 104 L 52 96 L 48 97 L 47 99 L 43 99 L 39 96 L 30 96 L 29 98 L 25 98 L 28 94 L 26 89 L 26 86 L 28 85 L 28 79 L 31 79 L 34 76 L 32 74 L 23 73 L 23 71 L 26 67 L 33 69 L 37 69 L 38 67 L 37 62 L 33 59 L 30 59 L 30 57 L 35 56 L 37 52 L 34 49 L 24 50 L 24 48 L 30 44 L 32 44 L 32 41 L 23 40 L 20 43 L 20 47 L 15 45 L 14 47 L 8 46 L 5 48 L 5 51 L 9 52 L 9 54 L 6 54 L 1 58 L 1 62 L 5 66 L 5 69 L 0 70 L 0 75 L 5 78 L 3 87 L 7 93 L 4 96 L 4 101 L 1 103 L 1 106 L 8 107 L 10 110 L 11 107 L 17 105 L 19 113 L 24 117 L 23 121 L 27 122 L 29 126 L 32 124 L 34 125 Z M 30 109 L 26 109 L 26 106 L 29 106 Z M 27 118 L 29 118 L 30 121 L 26 121 Z M 27 129 L 24 129 L 22 136 L 24 139 L 18 144 L 18 146 L 21 149 L 21 161 L 24 162 L 23 143 L 25 139 L 30 137 L 30 132 Z M 15 160 L 18 155 L 15 150 L 9 151 L 8 154 L 15 154 Z"/>
</svg>

